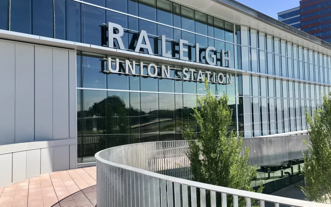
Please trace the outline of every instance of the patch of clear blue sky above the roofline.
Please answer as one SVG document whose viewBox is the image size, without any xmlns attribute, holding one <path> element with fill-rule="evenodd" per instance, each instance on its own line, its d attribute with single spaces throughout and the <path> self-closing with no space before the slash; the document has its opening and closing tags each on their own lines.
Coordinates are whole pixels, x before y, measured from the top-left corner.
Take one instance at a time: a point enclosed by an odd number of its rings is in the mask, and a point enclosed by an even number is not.
<svg viewBox="0 0 331 207">
<path fill-rule="evenodd" d="M 299 6 L 300 0 L 236 0 L 272 18 L 277 18 L 277 12 Z"/>
</svg>

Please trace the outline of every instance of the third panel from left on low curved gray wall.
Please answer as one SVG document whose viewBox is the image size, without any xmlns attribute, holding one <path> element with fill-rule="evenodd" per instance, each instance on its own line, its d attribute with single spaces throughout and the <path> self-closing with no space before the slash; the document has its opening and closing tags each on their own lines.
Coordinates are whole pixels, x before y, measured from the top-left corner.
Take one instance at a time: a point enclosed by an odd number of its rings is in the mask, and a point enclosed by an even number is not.
<svg viewBox="0 0 331 207">
<path fill-rule="evenodd" d="M 26 151 L 26 178 L 40 175 L 40 153 L 41 149 Z"/>
</svg>

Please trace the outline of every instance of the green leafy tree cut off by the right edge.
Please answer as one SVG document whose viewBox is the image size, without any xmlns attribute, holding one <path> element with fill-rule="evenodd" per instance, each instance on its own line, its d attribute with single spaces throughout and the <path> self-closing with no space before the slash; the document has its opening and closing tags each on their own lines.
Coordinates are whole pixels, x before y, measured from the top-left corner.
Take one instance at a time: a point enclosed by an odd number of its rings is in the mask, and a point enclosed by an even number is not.
<svg viewBox="0 0 331 207">
<path fill-rule="evenodd" d="M 330 93 L 331 95 L 331 93 Z M 309 140 L 303 140 L 308 150 L 303 152 L 306 187 L 302 191 L 308 200 L 320 203 L 331 202 L 331 99 L 323 96 L 320 105 L 313 112 L 313 118 L 306 109 Z"/>
</svg>

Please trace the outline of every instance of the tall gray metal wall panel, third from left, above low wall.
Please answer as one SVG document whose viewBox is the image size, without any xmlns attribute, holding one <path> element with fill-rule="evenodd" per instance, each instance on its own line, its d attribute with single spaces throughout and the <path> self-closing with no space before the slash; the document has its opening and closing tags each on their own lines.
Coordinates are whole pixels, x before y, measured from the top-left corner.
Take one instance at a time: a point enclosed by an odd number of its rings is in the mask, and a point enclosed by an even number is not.
<svg viewBox="0 0 331 207">
<path fill-rule="evenodd" d="M 35 140 L 53 139 L 53 49 L 35 46 Z"/>
</svg>

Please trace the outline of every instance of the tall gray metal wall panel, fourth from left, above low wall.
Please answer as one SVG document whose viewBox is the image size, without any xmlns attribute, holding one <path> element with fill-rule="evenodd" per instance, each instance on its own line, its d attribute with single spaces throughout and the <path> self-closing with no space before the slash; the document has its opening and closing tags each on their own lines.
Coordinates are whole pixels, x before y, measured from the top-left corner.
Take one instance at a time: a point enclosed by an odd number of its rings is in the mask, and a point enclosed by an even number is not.
<svg viewBox="0 0 331 207">
<path fill-rule="evenodd" d="M 68 56 L 68 50 L 53 49 L 53 139 L 69 137 Z"/>
</svg>

